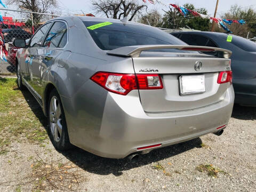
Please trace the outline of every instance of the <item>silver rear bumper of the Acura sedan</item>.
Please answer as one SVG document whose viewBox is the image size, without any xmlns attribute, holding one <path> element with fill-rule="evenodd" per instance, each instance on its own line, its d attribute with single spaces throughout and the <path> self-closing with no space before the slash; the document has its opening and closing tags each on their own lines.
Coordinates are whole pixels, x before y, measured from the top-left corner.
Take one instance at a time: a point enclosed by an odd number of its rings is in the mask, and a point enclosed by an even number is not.
<svg viewBox="0 0 256 192">
<path fill-rule="evenodd" d="M 165 147 L 216 132 L 217 127 L 228 124 L 234 104 L 233 86 L 221 102 L 174 113 L 145 113 L 138 96 L 137 90 L 125 97 L 108 93 L 100 130 L 90 135 L 90 143 L 76 145 L 99 156 L 124 158 L 141 152 L 137 150 L 139 147 L 158 143 L 162 144 L 159 147 Z"/>
</svg>

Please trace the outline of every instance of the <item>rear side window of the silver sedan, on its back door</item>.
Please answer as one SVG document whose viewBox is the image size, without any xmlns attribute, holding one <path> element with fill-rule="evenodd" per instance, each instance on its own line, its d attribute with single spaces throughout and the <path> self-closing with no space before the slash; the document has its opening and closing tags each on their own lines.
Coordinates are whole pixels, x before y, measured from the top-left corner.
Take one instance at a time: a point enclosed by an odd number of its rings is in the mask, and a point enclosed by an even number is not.
<svg viewBox="0 0 256 192">
<path fill-rule="evenodd" d="M 63 48 L 67 44 L 67 26 L 64 22 L 54 22 L 46 36 L 44 47 Z"/>
</svg>

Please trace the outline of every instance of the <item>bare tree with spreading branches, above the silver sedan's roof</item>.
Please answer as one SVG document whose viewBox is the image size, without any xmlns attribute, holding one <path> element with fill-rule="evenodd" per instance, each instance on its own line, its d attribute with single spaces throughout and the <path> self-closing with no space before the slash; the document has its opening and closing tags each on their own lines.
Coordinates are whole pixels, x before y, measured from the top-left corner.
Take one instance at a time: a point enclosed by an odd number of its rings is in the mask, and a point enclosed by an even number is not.
<svg viewBox="0 0 256 192">
<path fill-rule="evenodd" d="M 147 10 L 147 5 L 136 0 L 91 0 L 96 13 L 103 13 L 107 18 L 121 19 L 129 17 L 131 21 L 136 14 Z M 138 3 L 142 2 L 142 3 Z"/>
</svg>

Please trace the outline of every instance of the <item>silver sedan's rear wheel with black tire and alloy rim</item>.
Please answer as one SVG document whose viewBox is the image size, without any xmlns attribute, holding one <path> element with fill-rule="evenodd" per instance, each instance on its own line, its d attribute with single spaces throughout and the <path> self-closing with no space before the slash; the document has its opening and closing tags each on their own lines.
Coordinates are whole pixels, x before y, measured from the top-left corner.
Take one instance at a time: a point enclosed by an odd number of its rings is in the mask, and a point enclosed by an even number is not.
<svg viewBox="0 0 256 192">
<path fill-rule="evenodd" d="M 47 106 L 48 134 L 52 145 L 57 150 L 73 148 L 73 145 L 69 142 L 66 118 L 56 89 L 51 91 Z"/>
</svg>

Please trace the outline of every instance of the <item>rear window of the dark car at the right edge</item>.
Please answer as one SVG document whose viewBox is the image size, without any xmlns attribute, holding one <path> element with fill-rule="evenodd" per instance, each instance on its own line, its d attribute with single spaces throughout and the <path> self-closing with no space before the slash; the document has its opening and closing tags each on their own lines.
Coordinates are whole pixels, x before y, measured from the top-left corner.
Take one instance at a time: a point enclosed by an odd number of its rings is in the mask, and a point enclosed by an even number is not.
<svg viewBox="0 0 256 192">
<path fill-rule="evenodd" d="M 240 49 L 249 52 L 256 52 L 256 43 L 239 36 L 233 36 L 231 43 L 238 46 Z"/>
</svg>

